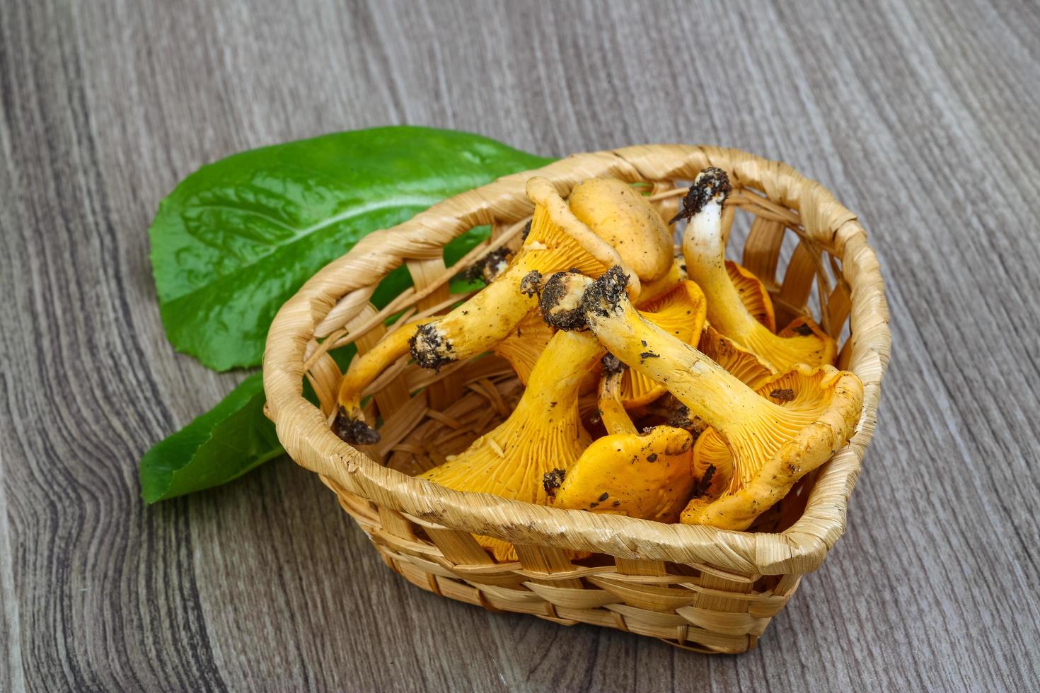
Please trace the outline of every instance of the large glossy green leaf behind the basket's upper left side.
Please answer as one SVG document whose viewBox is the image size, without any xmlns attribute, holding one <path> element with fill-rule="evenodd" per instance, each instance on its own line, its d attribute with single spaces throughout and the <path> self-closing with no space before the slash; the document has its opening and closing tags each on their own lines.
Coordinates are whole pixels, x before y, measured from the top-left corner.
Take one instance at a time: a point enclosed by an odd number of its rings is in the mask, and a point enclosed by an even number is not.
<svg viewBox="0 0 1040 693">
<path fill-rule="evenodd" d="M 150 229 L 166 336 L 210 368 L 257 366 L 282 303 L 366 233 L 548 161 L 478 135 L 402 126 L 203 166 L 162 201 Z M 379 298 L 410 284 L 397 270 Z"/>
</svg>

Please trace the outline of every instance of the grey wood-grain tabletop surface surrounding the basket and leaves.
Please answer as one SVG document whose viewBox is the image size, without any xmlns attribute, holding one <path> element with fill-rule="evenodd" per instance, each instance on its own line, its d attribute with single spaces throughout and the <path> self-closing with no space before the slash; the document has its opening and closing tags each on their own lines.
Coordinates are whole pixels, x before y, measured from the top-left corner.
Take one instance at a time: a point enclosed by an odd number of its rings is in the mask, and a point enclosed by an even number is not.
<svg viewBox="0 0 1040 693">
<path fill-rule="evenodd" d="M 0 688 L 1038 686 L 1040 6 L 0 0 Z M 851 527 L 707 658 L 415 589 L 282 459 L 145 507 L 240 374 L 165 341 L 146 230 L 200 164 L 374 125 L 710 142 L 837 191 L 893 357 Z"/>
</svg>

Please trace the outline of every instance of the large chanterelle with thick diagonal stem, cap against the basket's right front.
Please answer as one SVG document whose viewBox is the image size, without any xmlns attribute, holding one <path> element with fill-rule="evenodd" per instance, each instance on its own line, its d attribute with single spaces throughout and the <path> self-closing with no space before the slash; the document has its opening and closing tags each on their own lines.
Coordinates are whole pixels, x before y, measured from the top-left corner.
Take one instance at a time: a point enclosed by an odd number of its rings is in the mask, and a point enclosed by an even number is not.
<svg viewBox="0 0 1040 693">
<path fill-rule="evenodd" d="M 818 406 L 796 410 L 770 401 L 695 347 L 643 319 L 625 295 L 626 282 L 619 268 L 595 282 L 569 275 L 569 291 L 581 295 L 569 312 L 582 314 L 610 353 L 668 388 L 725 441 L 734 485 L 703 507 L 695 501 L 683 522 L 745 529 L 799 478 L 844 446 L 862 408 L 862 383 L 855 374 L 831 366 L 802 366 L 798 388 L 814 393 L 803 394 L 803 401 L 811 399 Z M 566 300 L 575 302 L 573 295 Z M 544 314 L 552 324 L 551 306 Z M 574 315 L 569 317 L 570 324 L 579 324 Z"/>
</svg>

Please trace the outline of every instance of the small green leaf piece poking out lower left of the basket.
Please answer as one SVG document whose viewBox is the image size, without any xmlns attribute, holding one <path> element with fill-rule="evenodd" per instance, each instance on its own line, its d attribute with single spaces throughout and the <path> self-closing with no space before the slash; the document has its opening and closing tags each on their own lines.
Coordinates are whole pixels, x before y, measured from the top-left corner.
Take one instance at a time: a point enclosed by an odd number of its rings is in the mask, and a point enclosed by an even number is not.
<svg viewBox="0 0 1040 693">
<path fill-rule="evenodd" d="M 284 453 L 263 416 L 261 373 L 254 373 L 202 415 L 154 445 L 140 460 L 148 503 L 227 483 Z"/>
</svg>

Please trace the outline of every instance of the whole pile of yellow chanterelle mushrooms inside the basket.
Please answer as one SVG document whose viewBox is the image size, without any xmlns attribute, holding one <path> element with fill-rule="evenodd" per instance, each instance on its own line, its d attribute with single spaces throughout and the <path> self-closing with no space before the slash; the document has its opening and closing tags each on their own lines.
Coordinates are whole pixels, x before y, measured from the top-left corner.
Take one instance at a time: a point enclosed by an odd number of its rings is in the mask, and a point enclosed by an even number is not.
<svg viewBox="0 0 1040 693">
<path fill-rule="evenodd" d="M 725 259 L 722 169 L 705 168 L 665 223 L 622 181 L 590 179 L 565 201 L 527 182 L 535 213 L 488 285 L 446 315 L 411 322 L 344 375 L 335 432 L 379 441 L 362 393 L 399 358 L 424 368 L 494 351 L 525 384 L 509 418 L 421 475 L 557 508 L 747 529 L 853 434 L 863 389 L 834 368 L 807 318 L 777 331 L 765 288 Z M 687 219 L 682 252 L 670 224 Z M 582 420 L 579 395 L 598 388 Z M 593 439 L 589 429 L 602 430 Z M 513 548 L 480 543 L 501 560 Z"/>
</svg>

